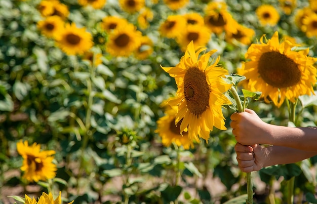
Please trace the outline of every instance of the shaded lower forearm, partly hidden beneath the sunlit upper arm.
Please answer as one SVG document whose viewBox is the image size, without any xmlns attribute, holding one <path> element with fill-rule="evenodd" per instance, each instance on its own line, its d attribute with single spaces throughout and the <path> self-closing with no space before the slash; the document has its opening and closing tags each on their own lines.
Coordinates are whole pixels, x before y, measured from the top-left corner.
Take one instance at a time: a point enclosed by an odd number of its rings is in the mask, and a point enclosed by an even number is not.
<svg viewBox="0 0 317 204">
<path fill-rule="evenodd" d="M 266 159 L 263 167 L 272 165 L 292 164 L 317 155 L 317 151 L 304 151 L 284 146 L 269 146 L 265 148 Z"/>
</svg>

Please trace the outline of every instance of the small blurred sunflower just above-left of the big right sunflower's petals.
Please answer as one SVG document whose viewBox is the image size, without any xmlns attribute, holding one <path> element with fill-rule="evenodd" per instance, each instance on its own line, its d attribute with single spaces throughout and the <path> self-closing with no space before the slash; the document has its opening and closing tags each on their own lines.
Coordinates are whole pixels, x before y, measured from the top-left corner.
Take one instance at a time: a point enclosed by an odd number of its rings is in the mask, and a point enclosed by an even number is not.
<svg viewBox="0 0 317 204">
<path fill-rule="evenodd" d="M 226 34 L 226 41 L 232 42 L 232 40 L 235 39 L 244 45 L 250 45 L 255 35 L 255 31 L 252 28 L 248 28 L 241 24 L 237 25 L 236 29 L 236 33 Z"/>
</svg>

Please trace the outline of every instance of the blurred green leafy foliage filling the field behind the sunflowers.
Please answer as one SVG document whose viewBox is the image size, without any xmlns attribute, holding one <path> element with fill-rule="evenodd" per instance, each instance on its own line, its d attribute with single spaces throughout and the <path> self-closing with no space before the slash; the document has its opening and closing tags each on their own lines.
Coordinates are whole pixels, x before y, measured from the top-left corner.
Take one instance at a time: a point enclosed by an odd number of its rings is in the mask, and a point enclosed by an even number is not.
<svg viewBox="0 0 317 204">
<path fill-rule="evenodd" d="M 175 40 L 161 37 L 157 29 L 172 14 L 203 14 L 208 2 L 191 0 L 185 8 L 171 11 L 163 1 L 146 1 L 154 19 L 142 33 L 153 40 L 153 54 L 142 61 L 104 54 L 103 63 L 92 68 L 79 57 L 65 55 L 37 29 L 36 22 L 42 19 L 36 9 L 38 0 L 0 0 L 0 202 L 13 202 L 8 191 L 38 197 L 49 186 L 55 193 L 61 190 L 63 197 L 74 203 L 244 200 L 245 174 L 236 166 L 235 140 L 229 128 L 231 109 L 223 109 L 228 130 L 215 129 L 208 144 L 202 141 L 189 151 L 163 147 L 154 133 L 156 120 L 163 116 L 160 104 L 176 91 L 174 79 L 160 65 L 175 66 L 183 55 Z M 82 8 L 76 0 L 61 3 L 69 8 L 70 21 L 93 34 L 97 51 L 104 52 L 103 40 L 107 38 L 96 26 L 103 17 L 119 15 L 138 26 L 137 14 L 123 12 L 117 1 L 108 0 L 101 10 Z M 270 38 L 278 30 L 309 46 L 310 56 L 316 57 L 315 38 L 307 38 L 294 25 L 296 9 L 287 16 L 276 1 L 226 3 L 236 21 L 256 31 L 254 43 L 263 34 Z M 262 4 L 279 10 L 278 25 L 259 25 L 255 9 Z M 297 8 L 307 5 L 298 1 Z M 228 44 L 223 35 L 212 34 L 207 48 L 217 49 L 221 65 L 235 73 L 248 46 Z M 315 126 L 316 99 L 300 98 L 296 126 Z M 288 125 L 286 106 L 278 109 L 252 101 L 249 108 L 268 123 Z M 124 138 L 129 142 L 123 142 Z M 22 158 L 16 152 L 16 142 L 21 139 L 57 152 L 58 171 L 53 183 L 27 184 L 21 180 Z M 316 203 L 315 164 L 313 157 L 252 173 L 256 203 L 284 203 L 284 184 L 292 176 L 296 176 L 295 200 Z M 180 182 L 175 181 L 177 175 Z M 34 186 L 35 190 L 30 190 Z"/>
</svg>

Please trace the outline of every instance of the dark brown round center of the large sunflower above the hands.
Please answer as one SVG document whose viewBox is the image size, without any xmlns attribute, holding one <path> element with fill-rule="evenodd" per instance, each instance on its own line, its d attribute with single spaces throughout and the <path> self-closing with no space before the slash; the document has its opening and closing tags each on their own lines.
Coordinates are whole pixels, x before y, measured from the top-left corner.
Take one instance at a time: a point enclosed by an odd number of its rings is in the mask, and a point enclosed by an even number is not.
<svg viewBox="0 0 317 204">
<path fill-rule="evenodd" d="M 277 88 L 296 85 L 301 75 L 298 65 L 279 52 L 263 53 L 259 60 L 258 71 L 267 84 Z"/>
</svg>

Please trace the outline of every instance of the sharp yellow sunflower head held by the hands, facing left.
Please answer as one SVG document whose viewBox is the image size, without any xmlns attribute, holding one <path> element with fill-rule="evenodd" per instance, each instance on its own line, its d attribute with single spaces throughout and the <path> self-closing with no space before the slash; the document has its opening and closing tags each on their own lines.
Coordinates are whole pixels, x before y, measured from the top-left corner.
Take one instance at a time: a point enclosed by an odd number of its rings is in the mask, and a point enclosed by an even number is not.
<svg viewBox="0 0 317 204">
<path fill-rule="evenodd" d="M 176 98 L 167 103 L 178 106 L 175 124 L 180 124 L 180 133 L 188 130 L 190 140 L 199 142 L 199 137 L 209 139 L 213 127 L 226 130 L 222 106 L 230 104 L 224 93 L 231 87 L 224 80 L 227 70 L 218 67 L 220 57 L 209 63 L 210 56 L 216 52 L 200 47 L 195 51 L 193 42 L 190 42 L 185 55 L 175 67 L 162 67 L 171 76 L 175 77 L 177 84 Z M 198 137 L 199 136 L 199 137 Z"/>
</svg>

